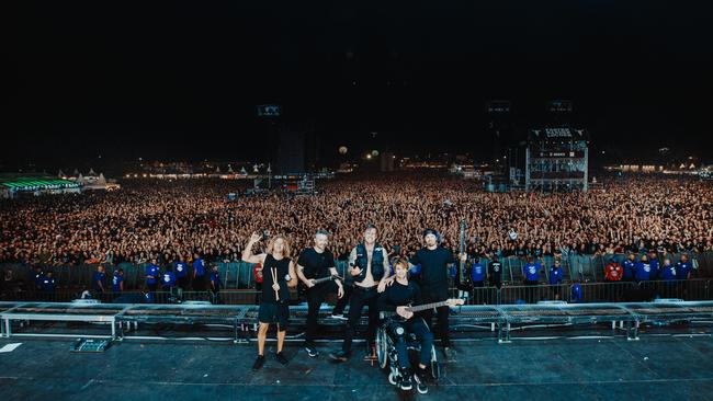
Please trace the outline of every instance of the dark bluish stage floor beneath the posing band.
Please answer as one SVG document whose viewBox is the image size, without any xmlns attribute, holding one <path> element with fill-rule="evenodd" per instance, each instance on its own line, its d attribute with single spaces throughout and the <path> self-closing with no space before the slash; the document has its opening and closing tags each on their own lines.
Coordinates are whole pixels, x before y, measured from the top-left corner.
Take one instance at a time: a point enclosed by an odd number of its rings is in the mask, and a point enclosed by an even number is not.
<svg viewBox="0 0 713 401">
<path fill-rule="evenodd" d="M 2 400 L 713 400 L 710 335 L 644 335 L 614 339 L 487 339 L 455 344 L 457 362 L 426 396 L 403 394 L 386 374 L 362 360 L 329 360 L 339 343 L 320 344 L 309 358 L 290 343 L 286 367 L 273 358 L 250 370 L 253 344 L 138 342 L 100 354 L 69 352 L 69 341 L 0 340 Z"/>
</svg>

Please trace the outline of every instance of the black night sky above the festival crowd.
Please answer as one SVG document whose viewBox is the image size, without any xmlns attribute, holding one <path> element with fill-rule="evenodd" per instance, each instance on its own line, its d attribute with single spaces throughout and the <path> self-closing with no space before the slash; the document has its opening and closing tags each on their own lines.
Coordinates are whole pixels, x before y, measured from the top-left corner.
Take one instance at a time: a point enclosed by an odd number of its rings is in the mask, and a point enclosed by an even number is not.
<svg viewBox="0 0 713 401">
<path fill-rule="evenodd" d="M 713 150 L 709 1 L 18 4 L 5 168 L 262 154 L 267 102 L 328 149 L 484 154 L 487 100 L 522 135 L 570 99 L 595 146 Z"/>
</svg>

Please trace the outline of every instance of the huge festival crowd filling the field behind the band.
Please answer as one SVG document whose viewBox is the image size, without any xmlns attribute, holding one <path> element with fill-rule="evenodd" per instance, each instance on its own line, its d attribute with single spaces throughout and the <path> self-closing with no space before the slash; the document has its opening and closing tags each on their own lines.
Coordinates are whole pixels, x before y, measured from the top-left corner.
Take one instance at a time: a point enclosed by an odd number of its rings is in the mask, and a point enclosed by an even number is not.
<svg viewBox="0 0 713 401">
<path fill-rule="evenodd" d="M 601 180 L 600 180 L 601 181 Z M 425 227 L 471 255 L 540 257 L 650 250 L 713 250 L 713 185 L 674 177 L 612 177 L 587 193 L 487 193 L 444 174 L 353 175 L 318 182 L 315 196 L 244 193 L 237 181 L 123 183 L 122 191 L 0 202 L 0 263 L 44 266 L 239 261 L 251 232 L 282 233 L 296 250 L 318 229 L 346 260 L 369 222 L 389 255 L 409 256 Z M 398 224 L 395 224 L 398 221 Z M 296 253 L 291 256 L 296 256 Z"/>
</svg>

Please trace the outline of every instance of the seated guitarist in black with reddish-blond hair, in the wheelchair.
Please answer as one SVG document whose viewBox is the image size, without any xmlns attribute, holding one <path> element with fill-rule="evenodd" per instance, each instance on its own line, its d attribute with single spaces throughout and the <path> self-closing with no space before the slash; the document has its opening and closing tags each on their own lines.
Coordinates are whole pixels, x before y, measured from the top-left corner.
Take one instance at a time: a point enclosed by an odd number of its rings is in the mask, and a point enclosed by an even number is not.
<svg viewBox="0 0 713 401">
<path fill-rule="evenodd" d="M 395 339 L 397 360 L 401 369 L 403 379 L 399 387 L 401 390 L 410 390 L 412 388 L 412 381 L 416 381 L 416 385 L 419 387 L 418 391 L 425 393 L 428 391 L 426 387 L 426 367 L 431 362 L 433 333 L 431 333 L 428 324 L 426 324 L 426 321 L 420 314 L 414 314 L 414 312 L 406 310 L 408 306 L 423 303 L 418 284 L 408 279 L 408 261 L 397 257 L 394 262 L 394 270 L 396 278 L 389 283 L 378 298 L 378 309 L 383 311 L 396 311 L 396 314 L 403 319 L 403 321 L 392 320 L 387 329 Z M 416 375 L 411 371 L 411 364 L 406 347 L 405 337 L 407 337 L 408 333 L 414 333 L 421 344 Z M 411 377 L 414 377 L 414 380 L 411 380 Z"/>
</svg>

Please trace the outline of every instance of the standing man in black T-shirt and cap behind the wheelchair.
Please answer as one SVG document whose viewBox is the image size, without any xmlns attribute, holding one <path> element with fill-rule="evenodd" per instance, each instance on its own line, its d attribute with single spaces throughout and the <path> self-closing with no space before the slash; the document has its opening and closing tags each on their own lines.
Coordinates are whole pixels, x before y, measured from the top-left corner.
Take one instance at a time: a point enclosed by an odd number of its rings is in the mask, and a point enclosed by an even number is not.
<svg viewBox="0 0 713 401">
<path fill-rule="evenodd" d="M 441 302 L 449 298 L 449 265 L 455 263 L 456 259 L 453 253 L 445 248 L 439 247 L 439 233 L 433 229 L 423 231 L 423 241 L 426 247 L 418 250 L 409 260 L 411 266 L 421 265 L 421 295 L 423 303 Z M 460 255 L 461 261 L 465 262 L 467 254 Z M 449 312 L 448 306 L 437 308 L 438 325 L 441 334 L 441 345 L 443 354 L 448 359 L 453 358 L 451 351 L 451 339 L 449 335 Z M 431 326 L 433 310 L 429 309 L 422 313 L 426 323 Z"/>
</svg>

